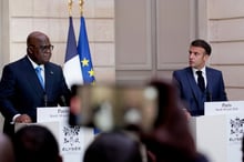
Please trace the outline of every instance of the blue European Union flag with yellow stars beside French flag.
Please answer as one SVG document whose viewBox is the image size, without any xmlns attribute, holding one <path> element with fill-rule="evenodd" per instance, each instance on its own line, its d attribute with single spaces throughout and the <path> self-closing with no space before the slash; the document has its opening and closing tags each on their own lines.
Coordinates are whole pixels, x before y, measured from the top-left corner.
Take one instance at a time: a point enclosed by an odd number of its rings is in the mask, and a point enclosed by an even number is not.
<svg viewBox="0 0 244 162">
<path fill-rule="evenodd" d="M 94 84 L 94 70 L 92 65 L 92 59 L 89 48 L 87 28 L 84 17 L 80 18 L 80 36 L 78 41 L 78 53 L 80 55 L 81 70 L 84 84 Z"/>
</svg>

